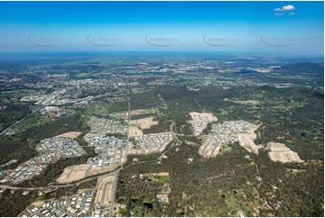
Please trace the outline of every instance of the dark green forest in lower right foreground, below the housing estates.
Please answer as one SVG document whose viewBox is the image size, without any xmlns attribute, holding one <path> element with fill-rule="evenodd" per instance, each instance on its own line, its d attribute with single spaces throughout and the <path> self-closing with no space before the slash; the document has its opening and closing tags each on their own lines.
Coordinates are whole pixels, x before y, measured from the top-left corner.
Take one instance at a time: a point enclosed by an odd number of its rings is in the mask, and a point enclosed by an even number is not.
<svg viewBox="0 0 325 218">
<path fill-rule="evenodd" d="M 252 216 L 253 205 L 260 216 L 323 215 L 322 163 L 275 163 L 266 152 L 246 159 L 248 152 L 239 144 L 230 145 L 232 150 L 217 158 L 203 159 L 196 137 L 180 140 L 161 164 L 155 155 L 133 156 L 140 162 L 127 163 L 122 169 L 116 200 L 127 205 L 124 215 L 236 216 L 242 211 Z M 194 159 L 190 164 L 189 158 Z M 169 173 L 169 204 L 158 203 L 161 184 L 157 179 L 148 182 L 145 176 L 159 172 Z"/>
</svg>

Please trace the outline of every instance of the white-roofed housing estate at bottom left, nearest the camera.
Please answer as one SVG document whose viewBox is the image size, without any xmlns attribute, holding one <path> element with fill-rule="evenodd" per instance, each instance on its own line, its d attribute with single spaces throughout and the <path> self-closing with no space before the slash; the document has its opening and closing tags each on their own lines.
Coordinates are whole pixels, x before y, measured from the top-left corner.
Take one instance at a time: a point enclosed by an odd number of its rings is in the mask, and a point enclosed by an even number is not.
<svg viewBox="0 0 325 218">
<path fill-rule="evenodd" d="M 77 195 L 51 199 L 43 204 L 31 204 L 19 216 L 23 217 L 85 217 L 95 213 L 95 190 L 86 189 Z"/>
</svg>

